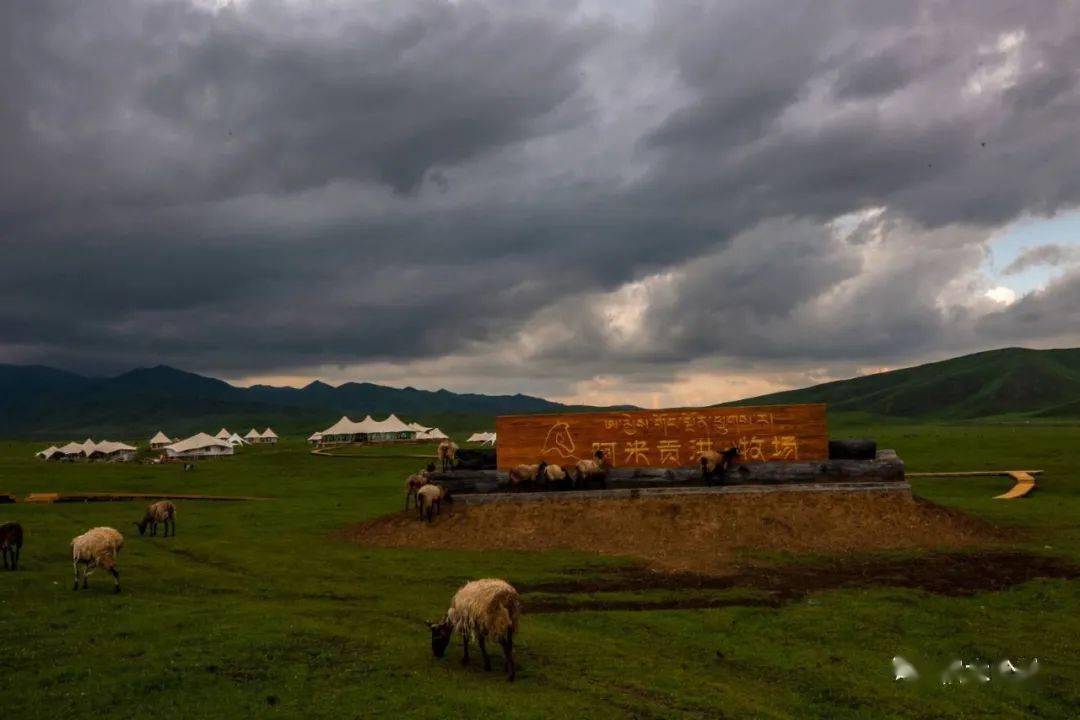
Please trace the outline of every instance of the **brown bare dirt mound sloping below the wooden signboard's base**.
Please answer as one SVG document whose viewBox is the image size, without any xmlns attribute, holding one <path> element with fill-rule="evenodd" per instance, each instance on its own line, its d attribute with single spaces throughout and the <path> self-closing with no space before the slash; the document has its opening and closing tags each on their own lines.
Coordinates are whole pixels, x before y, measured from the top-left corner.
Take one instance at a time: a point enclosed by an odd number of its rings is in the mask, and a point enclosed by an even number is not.
<svg viewBox="0 0 1080 720">
<path fill-rule="evenodd" d="M 376 518 L 345 538 L 382 547 L 579 549 L 667 570 L 715 572 L 737 548 L 842 553 L 961 547 L 998 540 L 990 525 L 902 492 L 769 493 L 490 503 Z"/>
</svg>

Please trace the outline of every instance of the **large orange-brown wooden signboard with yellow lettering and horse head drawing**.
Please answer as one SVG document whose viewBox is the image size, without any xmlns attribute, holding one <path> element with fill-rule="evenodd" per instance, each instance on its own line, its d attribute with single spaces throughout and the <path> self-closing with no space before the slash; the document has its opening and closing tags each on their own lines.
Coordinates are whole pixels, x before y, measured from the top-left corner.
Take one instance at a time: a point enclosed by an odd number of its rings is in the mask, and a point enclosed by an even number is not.
<svg viewBox="0 0 1080 720">
<path fill-rule="evenodd" d="M 499 470 L 541 459 L 572 465 L 597 449 L 616 467 L 692 466 L 703 451 L 733 446 L 739 462 L 828 457 L 824 405 L 513 415 L 495 426 Z"/>
</svg>

